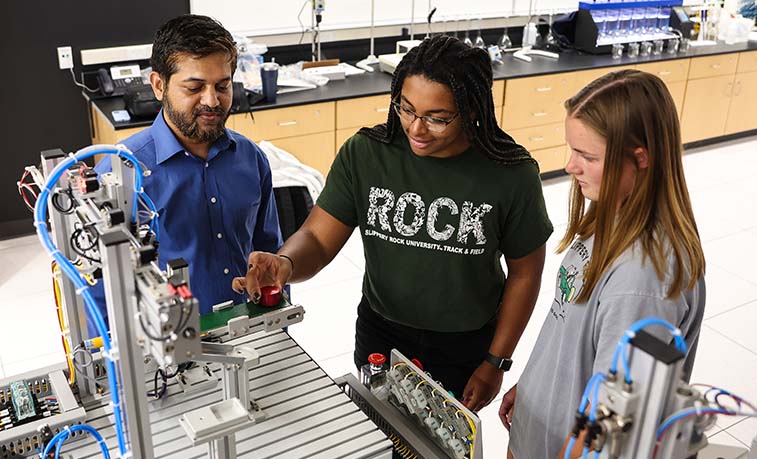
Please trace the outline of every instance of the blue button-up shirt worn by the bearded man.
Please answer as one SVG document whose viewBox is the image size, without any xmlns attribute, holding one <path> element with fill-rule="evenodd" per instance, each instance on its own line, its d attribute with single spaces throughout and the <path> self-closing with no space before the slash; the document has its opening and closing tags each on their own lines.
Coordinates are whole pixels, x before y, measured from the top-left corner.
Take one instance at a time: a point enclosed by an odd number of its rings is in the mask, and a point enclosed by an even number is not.
<svg viewBox="0 0 757 459">
<path fill-rule="evenodd" d="M 251 251 L 276 252 L 282 244 L 265 153 L 226 129 L 207 160 L 198 158 L 184 150 L 162 111 L 149 129 L 122 143 L 151 172 L 143 188 L 158 209 L 160 267 L 179 257 L 189 263 L 190 288 L 202 314 L 217 303 L 246 301 L 231 289 L 232 278 L 245 274 Z M 109 171 L 110 159 L 95 170 Z"/>
</svg>

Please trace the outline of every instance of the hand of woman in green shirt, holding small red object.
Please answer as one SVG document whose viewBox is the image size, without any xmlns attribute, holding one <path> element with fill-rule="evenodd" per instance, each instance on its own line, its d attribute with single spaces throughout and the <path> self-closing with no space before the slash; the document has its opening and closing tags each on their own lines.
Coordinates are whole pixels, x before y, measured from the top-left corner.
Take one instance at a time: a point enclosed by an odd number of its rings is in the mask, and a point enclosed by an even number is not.
<svg viewBox="0 0 757 459">
<path fill-rule="evenodd" d="M 237 293 L 244 293 L 257 303 L 260 301 L 260 287 L 272 285 L 283 288 L 292 277 L 292 262 L 284 257 L 268 252 L 252 252 L 247 258 L 247 275 L 235 277 L 231 288 Z"/>
</svg>

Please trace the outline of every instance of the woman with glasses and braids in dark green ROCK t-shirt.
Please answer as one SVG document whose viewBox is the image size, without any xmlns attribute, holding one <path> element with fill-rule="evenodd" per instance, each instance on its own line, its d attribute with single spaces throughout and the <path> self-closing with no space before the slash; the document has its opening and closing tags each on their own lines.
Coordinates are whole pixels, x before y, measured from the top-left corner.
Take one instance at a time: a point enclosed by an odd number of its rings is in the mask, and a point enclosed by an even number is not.
<svg viewBox="0 0 757 459">
<path fill-rule="evenodd" d="M 253 252 L 234 289 L 301 282 L 360 228 L 355 364 L 417 357 L 473 410 L 491 402 L 536 301 L 552 232 L 538 166 L 499 128 L 488 54 L 437 36 L 392 81 L 387 122 L 340 149 L 302 228 Z M 504 255 L 508 275 L 501 257 Z"/>
</svg>

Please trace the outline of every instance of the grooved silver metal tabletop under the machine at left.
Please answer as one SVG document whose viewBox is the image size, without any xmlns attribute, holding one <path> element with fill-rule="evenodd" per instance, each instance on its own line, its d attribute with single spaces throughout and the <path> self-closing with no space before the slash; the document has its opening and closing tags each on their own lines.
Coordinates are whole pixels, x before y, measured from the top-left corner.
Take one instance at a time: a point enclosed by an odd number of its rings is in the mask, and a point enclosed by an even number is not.
<svg viewBox="0 0 757 459">
<path fill-rule="evenodd" d="M 255 333 L 227 344 L 250 344 L 260 364 L 250 370 L 252 398 L 266 419 L 236 434 L 240 458 L 358 459 L 391 458 L 391 442 L 361 412 L 334 381 L 285 332 Z M 219 375 L 218 364 L 209 365 Z M 152 374 L 145 390 L 152 388 Z M 150 422 L 156 458 L 195 459 L 208 456 L 208 446 L 193 447 L 179 426 L 179 416 L 222 399 L 215 389 L 184 394 L 172 379 L 167 396 L 150 402 Z M 109 398 L 85 401 L 87 423 L 105 437 L 118 457 Z M 63 448 L 76 459 L 99 458 L 95 442 L 87 437 Z"/>
</svg>

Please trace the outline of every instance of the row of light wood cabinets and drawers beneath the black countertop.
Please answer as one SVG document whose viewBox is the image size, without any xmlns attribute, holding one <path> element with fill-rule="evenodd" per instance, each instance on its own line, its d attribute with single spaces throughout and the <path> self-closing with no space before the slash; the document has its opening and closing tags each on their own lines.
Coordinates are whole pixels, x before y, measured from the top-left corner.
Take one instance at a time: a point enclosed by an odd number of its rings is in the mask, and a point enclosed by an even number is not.
<svg viewBox="0 0 757 459">
<path fill-rule="evenodd" d="M 665 82 L 684 143 L 757 129 L 757 51 L 497 80 L 492 84 L 497 121 L 534 155 L 542 172 L 562 169 L 565 100 L 596 78 L 626 68 Z M 385 122 L 389 110 L 390 95 L 381 94 L 236 114 L 227 126 L 255 142 L 268 140 L 326 175 L 344 141 L 363 126 Z M 94 106 L 92 120 L 93 143 L 117 143 L 144 129 L 116 131 Z"/>
</svg>

